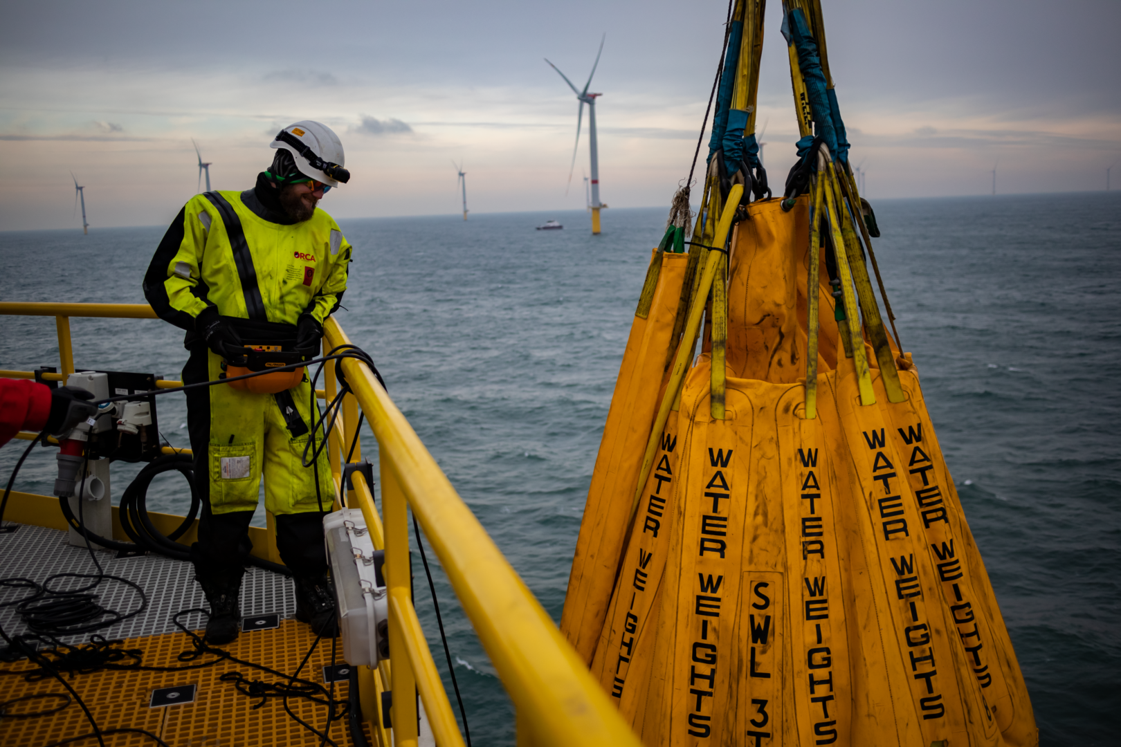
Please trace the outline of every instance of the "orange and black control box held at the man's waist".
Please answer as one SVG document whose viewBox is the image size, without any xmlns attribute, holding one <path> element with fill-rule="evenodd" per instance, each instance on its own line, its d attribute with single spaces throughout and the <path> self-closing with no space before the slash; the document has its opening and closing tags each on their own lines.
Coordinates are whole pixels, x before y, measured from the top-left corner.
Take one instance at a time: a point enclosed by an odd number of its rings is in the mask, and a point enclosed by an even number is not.
<svg viewBox="0 0 1121 747">
<path fill-rule="evenodd" d="M 296 327 L 274 321 L 256 321 L 224 317 L 231 323 L 242 339 L 242 355 L 222 362 L 222 379 L 233 379 L 248 373 L 268 371 L 303 363 L 308 356 L 293 349 L 296 345 Z M 256 394 L 277 394 L 298 386 L 304 381 L 306 368 L 289 368 L 267 373 L 252 379 L 230 382 L 230 386 Z"/>
</svg>

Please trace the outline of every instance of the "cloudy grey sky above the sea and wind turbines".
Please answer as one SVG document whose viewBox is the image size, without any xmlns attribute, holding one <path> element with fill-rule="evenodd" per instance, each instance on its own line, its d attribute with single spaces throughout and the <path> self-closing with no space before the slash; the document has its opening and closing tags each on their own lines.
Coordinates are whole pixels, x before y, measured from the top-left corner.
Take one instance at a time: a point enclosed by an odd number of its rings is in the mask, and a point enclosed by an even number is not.
<svg viewBox="0 0 1121 747">
<path fill-rule="evenodd" d="M 796 139 L 778 2 L 760 86 L 767 162 Z M 578 208 L 576 101 L 593 83 L 612 206 L 668 204 L 688 170 L 726 3 L 11 3 L 0 28 L 0 230 L 163 223 L 196 187 L 248 186 L 296 119 L 355 174 L 339 216 Z M 1121 156 L 1121 3 L 825 0 L 830 62 L 871 197 L 1104 187 Z M 606 216 L 604 220 L 609 220 Z"/>
</svg>

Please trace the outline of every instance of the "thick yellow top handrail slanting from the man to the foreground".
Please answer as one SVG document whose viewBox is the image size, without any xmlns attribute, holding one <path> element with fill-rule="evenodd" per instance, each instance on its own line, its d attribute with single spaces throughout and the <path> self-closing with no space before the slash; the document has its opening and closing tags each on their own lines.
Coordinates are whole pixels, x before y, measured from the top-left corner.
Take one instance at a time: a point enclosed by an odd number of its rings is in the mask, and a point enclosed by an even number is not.
<svg viewBox="0 0 1121 747">
<path fill-rule="evenodd" d="M 333 318 L 327 319 L 324 332 L 326 349 L 350 344 Z M 387 475 L 382 470 L 387 566 L 395 547 L 408 547 L 407 526 L 398 529 L 404 536 L 389 526 L 396 491 L 385 489 L 385 484 L 391 479 L 424 527 L 518 709 L 519 721 L 529 726 L 535 741 L 557 747 L 638 747 L 638 738 L 608 694 L 455 493 L 370 368 L 354 358 L 345 358 L 342 370 L 378 439 L 382 465 L 388 465 L 392 473 Z M 390 604 L 392 600 L 390 596 Z M 393 657 L 395 685 L 406 663 Z M 395 708 L 397 702 L 395 697 Z"/>
</svg>

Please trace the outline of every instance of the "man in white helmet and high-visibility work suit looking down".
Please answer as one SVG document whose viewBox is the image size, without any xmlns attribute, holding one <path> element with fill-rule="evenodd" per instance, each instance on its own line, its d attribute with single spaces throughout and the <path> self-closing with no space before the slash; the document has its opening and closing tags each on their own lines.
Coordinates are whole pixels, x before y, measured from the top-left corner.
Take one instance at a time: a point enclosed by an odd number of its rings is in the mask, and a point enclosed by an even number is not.
<svg viewBox="0 0 1121 747">
<path fill-rule="evenodd" d="M 351 245 L 316 207 L 350 179 L 342 143 L 326 125 L 303 121 L 271 147 L 272 165 L 256 187 L 196 195 L 179 211 L 145 276 L 148 302 L 187 330 L 185 384 L 222 377 L 243 343 L 314 356 L 346 289 Z M 296 618 L 336 635 L 322 524 L 334 498 L 331 468 L 326 452 L 309 467 L 302 461 L 314 414 L 307 376 L 276 393 L 219 384 L 186 396 L 203 501 L 191 557 L 211 608 L 207 641 L 229 643 L 241 626 L 238 595 L 262 474 L 277 549 L 296 583 Z M 322 430 L 315 440 L 322 443 Z"/>
</svg>

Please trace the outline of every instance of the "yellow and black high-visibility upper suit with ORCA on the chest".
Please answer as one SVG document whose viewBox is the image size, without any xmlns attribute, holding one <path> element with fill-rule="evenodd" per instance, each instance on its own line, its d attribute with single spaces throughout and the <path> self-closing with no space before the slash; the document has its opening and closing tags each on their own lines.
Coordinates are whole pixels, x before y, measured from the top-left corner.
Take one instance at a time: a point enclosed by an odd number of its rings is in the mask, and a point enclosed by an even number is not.
<svg viewBox="0 0 1121 747">
<path fill-rule="evenodd" d="M 226 317 L 289 325 L 302 314 L 322 324 L 339 308 L 352 248 L 335 221 L 322 209 L 291 225 L 258 213 L 271 216 L 252 189 L 191 198 L 145 277 L 145 296 L 163 319 L 189 333 L 207 306 Z"/>
</svg>

